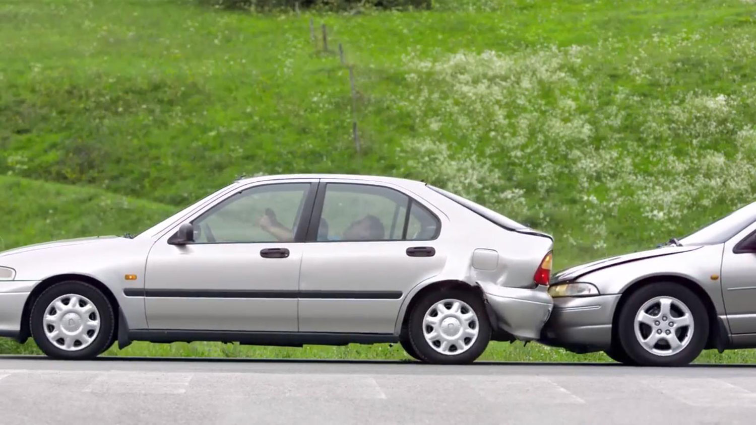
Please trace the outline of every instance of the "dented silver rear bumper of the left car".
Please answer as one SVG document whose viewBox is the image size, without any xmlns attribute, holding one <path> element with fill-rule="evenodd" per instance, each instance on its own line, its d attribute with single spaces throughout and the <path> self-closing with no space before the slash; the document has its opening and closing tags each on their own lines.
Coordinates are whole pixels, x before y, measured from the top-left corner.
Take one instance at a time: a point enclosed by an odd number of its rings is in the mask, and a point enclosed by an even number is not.
<svg viewBox="0 0 756 425">
<path fill-rule="evenodd" d="M 549 319 L 553 301 L 546 287 L 508 288 L 482 284 L 491 324 L 518 340 L 537 340 Z"/>
</svg>

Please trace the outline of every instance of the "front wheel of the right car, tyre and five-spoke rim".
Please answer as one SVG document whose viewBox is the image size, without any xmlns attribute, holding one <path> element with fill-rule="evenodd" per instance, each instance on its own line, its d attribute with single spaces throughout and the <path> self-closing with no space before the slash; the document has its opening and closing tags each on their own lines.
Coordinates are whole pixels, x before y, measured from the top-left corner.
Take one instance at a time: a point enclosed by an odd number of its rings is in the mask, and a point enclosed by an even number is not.
<svg viewBox="0 0 756 425">
<path fill-rule="evenodd" d="M 683 285 L 659 282 L 635 291 L 622 306 L 617 334 L 639 365 L 687 365 L 706 345 L 709 320 L 699 297 Z"/>
</svg>

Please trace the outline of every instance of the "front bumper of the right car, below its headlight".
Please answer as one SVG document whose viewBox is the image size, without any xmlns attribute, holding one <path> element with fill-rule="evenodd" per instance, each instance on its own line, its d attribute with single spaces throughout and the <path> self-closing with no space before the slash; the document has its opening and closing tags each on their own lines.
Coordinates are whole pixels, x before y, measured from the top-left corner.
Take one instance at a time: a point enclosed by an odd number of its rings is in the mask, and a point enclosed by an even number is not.
<svg viewBox="0 0 756 425">
<path fill-rule="evenodd" d="M 554 298 L 554 310 L 541 342 L 575 353 L 607 350 L 612 345 L 612 318 L 621 294 Z"/>
</svg>

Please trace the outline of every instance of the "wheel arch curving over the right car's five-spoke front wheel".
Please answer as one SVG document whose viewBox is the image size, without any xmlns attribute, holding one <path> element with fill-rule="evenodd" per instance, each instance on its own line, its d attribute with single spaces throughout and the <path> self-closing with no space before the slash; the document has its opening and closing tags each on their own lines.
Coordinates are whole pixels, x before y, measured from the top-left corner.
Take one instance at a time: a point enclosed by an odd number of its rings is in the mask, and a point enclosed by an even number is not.
<svg viewBox="0 0 756 425">
<path fill-rule="evenodd" d="M 727 338 L 729 338 L 729 336 L 727 335 L 727 329 L 723 329 L 723 327 L 720 326 L 720 321 L 717 316 L 717 308 L 716 306 L 714 306 L 714 301 L 711 300 L 711 297 L 709 297 L 704 288 L 702 288 L 701 285 L 698 284 L 698 282 L 683 276 L 668 274 L 644 277 L 643 279 L 639 279 L 637 282 L 631 283 L 631 285 L 628 285 L 627 288 L 622 291 L 622 295 L 617 302 L 617 306 L 615 306 L 614 313 L 612 314 L 612 345 L 614 345 L 618 341 L 616 324 L 618 323 L 619 313 L 622 311 L 624 304 L 627 303 L 627 299 L 636 291 L 639 291 L 640 288 L 645 288 L 646 286 L 662 282 L 671 282 L 682 285 L 683 287 L 688 288 L 690 291 L 692 291 L 693 294 L 696 294 L 696 297 L 699 297 L 699 300 L 701 300 L 701 302 L 704 304 L 709 319 L 709 334 L 705 348 L 720 349 L 723 340 L 726 340 Z"/>
</svg>

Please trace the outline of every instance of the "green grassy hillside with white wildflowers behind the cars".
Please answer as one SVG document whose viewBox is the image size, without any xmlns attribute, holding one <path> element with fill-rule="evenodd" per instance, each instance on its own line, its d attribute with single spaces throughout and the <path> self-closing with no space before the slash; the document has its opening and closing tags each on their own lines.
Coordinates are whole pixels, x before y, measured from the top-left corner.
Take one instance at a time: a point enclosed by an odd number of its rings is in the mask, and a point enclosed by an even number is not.
<svg viewBox="0 0 756 425">
<path fill-rule="evenodd" d="M 754 199 L 752 2 L 436 4 L 298 16 L 0 3 L 0 244 L 135 232 L 240 174 L 386 174 L 553 233 L 561 268 L 651 248 Z M 327 24 L 329 52 L 310 18 Z M 36 349 L 0 341 L 17 350 Z M 112 354 L 404 358 L 204 343 Z M 519 343 L 484 358 L 606 359 Z"/>
</svg>

